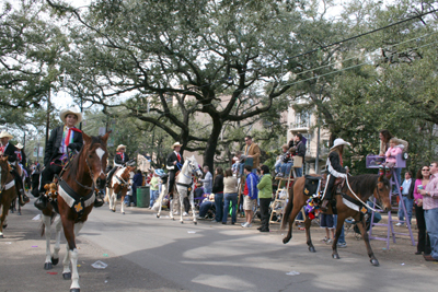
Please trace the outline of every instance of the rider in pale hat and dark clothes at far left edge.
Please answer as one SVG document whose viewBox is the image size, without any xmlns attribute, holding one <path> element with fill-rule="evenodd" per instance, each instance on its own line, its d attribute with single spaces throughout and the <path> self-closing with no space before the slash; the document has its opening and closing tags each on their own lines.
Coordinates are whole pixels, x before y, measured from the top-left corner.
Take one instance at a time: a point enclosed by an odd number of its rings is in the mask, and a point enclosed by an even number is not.
<svg viewBox="0 0 438 292">
<path fill-rule="evenodd" d="M 10 135 L 7 131 L 2 131 L 0 133 L 0 140 L 1 140 L 1 150 L 0 152 L 3 153 L 3 155 L 8 155 L 8 162 L 11 165 L 11 174 L 14 177 L 15 180 L 15 188 L 16 191 L 19 194 L 19 201 L 20 201 L 20 206 L 24 206 L 26 202 L 30 201 L 28 197 L 26 196 L 26 194 L 24 192 L 23 189 L 23 180 L 20 177 L 20 174 L 18 173 L 18 171 L 15 170 L 15 166 L 13 165 L 16 162 L 16 147 L 12 143 L 9 142 L 10 139 L 12 139 L 12 135 Z"/>
</svg>

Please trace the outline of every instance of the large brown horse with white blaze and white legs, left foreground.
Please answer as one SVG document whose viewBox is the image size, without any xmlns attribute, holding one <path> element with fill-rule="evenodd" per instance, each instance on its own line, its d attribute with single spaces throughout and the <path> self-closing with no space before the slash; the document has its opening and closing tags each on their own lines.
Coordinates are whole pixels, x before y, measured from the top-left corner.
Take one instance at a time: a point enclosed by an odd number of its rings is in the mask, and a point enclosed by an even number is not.
<svg viewBox="0 0 438 292">
<path fill-rule="evenodd" d="M 94 206 L 95 192 L 105 187 L 106 141 L 110 133 L 103 137 L 90 137 L 82 133 L 84 144 L 74 159 L 66 165 L 59 175 L 59 185 L 46 185 L 49 203 L 43 210 L 42 235 L 46 234 L 46 261 L 44 269 L 51 269 L 58 264 L 60 249 L 60 231 L 67 240 L 67 253 L 62 260 L 62 278 L 71 279 L 70 292 L 79 292 L 78 249 L 76 236 L 83 227 Z M 55 200 L 56 198 L 56 200 Z M 59 214 L 56 218 L 56 213 Z M 56 218 L 56 220 L 55 220 Z M 56 226 L 56 244 L 50 255 L 50 225 Z M 71 262 L 71 270 L 69 264 Z"/>
</svg>

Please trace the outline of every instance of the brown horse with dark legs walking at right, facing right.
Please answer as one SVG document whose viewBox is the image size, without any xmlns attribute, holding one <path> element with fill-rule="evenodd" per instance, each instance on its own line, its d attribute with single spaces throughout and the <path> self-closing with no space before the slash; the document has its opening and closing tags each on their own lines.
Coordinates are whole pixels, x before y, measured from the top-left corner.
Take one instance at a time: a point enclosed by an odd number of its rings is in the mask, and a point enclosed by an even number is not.
<svg viewBox="0 0 438 292">
<path fill-rule="evenodd" d="M 316 175 L 311 175 L 315 177 Z M 337 194 L 334 196 L 336 199 L 336 210 L 337 210 L 337 225 L 336 225 L 336 234 L 335 240 L 333 241 L 332 249 L 333 254 L 332 257 L 335 259 L 339 258 L 337 254 L 337 240 L 341 235 L 342 226 L 346 218 L 353 217 L 356 222 L 357 226 L 360 230 L 362 238 L 365 241 L 365 245 L 367 247 L 368 256 L 370 258 L 370 262 L 373 266 L 379 266 L 379 261 L 377 260 L 374 254 L 372 253 L 371 245 L 369 242 L 368 233 L 365 229 L 365 217 L 362 215 L 364 212 L 360 212 L 360 209 L 364 211 L 368 208 L 362 202 L 365 202 L 371 195 L 374 196 L 377 200 L 384 207 L 384 212 L 389 212 L 391 210 L 391 200 L 390 200 L 390 182 L 384 175 L 374 175 L 374 174 L 364 174 L 357 176 L 348 176 L 348 180 L 346 182 L 342 188 L 342 194 Z M 290 238 L 292 237 L 292 225 L 295 218 L 297 217 L 298 212 L 300 212 L 301 208 L 307 203 L 309 197 L 304 195 L 304 183 L 306 177 L 297 178 L 293 184 L 293 188 L 289 189 L 289 201 L 286 207 L 285 211 L 285 220 L 281 224 L 281 229 L 285 227 L 289 222 L 289 231 L 285 238 L 283 238 L 283 243 L 287 244 Z M 357 195 L 357 197 L 355 196 Z M 310 194 L 309 194 L 310 195 Z M 350 199 L 347 200 L 349 197 Z M 359 199 L 362 201 L 360 202 Z M 344 200 L 346 202 L 344 202 Z M 350 201 L 355 202 L 354 205 L 357 207 L 356 210 L 351 209 Z M 348 207 L 349 205 L 350 207 Z M 333 214 L 332 206 L 328 208 L 327 214 Z M 289 220 L 287 220 L 289 219 Z M 306 236 L 307 236 L 307 244 L 309 246 L 309 250 L 311 253 L 315 253 L 314 246 L 312 244 L 312 240 L 310 237 L 310 225 L 311 220 L 309 215 L 306 217 Z"/>
</svg>

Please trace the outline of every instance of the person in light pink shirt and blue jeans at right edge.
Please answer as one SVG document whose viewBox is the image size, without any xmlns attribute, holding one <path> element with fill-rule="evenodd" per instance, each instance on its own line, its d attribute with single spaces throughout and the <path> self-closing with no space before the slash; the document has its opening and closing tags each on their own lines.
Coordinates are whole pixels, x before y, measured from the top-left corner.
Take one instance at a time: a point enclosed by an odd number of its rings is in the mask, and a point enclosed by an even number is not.
<svg viewBox="0 0 438 292">
<path fill-rule="evenodd" d="M 419 189 L 423 196 L 426 230 L 430 238 L 430 255 L 424 255 L 427 261 L 438 261 L 438 161 L 430 163 L 430 180 L 426 189 Z"/>
</svg>

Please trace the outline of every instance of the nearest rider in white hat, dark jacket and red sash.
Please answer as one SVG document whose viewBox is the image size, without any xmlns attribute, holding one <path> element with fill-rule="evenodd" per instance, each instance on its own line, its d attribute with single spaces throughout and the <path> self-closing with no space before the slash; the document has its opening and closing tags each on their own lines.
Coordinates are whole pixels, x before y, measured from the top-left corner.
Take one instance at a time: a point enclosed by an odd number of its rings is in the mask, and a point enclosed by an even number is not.
<svg viewBox="0 0 438 292">
<path fill-rule="evenodd" d="M 74 125 L 82 121 L 82 113 L 76 107 L 65 108 L 60 112 L 59 118 L 65 125 L 55 128 L 50 132 L 44 155 L 44 170 L 41 174 L 39 194 L 36 194 L 37 189 L 33 190 L 35 197 L 39 196 L 35 201 L 35 207 L 39 210 L 44 210 L 47 207 L 44 186 L 51 183 L 55 175 L 58 175 L 62 171 L 69 161 L 69 152 L 79 152 L 83 147 L 82 131 L 74 127 Z M 94 207 L 101 207 L 102 205 L 103 201 L 96 196 Z"/>
</svg>

